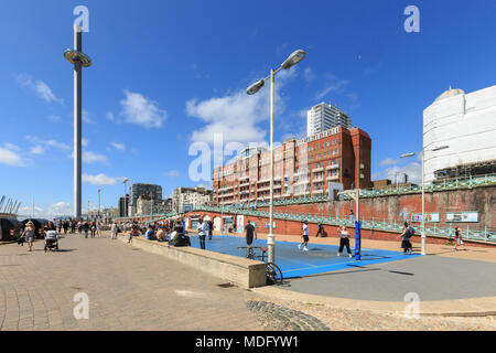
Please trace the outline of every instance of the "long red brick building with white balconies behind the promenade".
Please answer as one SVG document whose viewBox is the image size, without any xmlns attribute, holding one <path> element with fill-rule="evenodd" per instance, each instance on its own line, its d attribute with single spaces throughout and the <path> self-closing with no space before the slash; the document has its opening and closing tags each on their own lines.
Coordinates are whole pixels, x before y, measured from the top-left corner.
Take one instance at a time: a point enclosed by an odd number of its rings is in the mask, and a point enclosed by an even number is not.
<svg viewBox="0 0 496 353">
<path fill-rule="evenodd" d="M 344 189 L 370 188 L 371 140 L 367 132 L 335 127 L 274 148 L 274 199 L 328 193 L 328 183 Z M 215 167 L 214 203 L 249 203 L 270 199 L 270 151 L 246 148 L 235 161 Z"/>
</svg>

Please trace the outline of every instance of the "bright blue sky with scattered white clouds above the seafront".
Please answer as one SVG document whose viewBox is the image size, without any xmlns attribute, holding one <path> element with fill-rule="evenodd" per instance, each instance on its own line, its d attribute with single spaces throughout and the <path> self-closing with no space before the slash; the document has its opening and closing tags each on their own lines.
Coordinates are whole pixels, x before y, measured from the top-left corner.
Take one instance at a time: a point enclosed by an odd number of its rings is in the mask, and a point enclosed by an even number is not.
<svg viewBox="0 0 496 353">
<path fill-rule="evenodd" d="M 330 101 L 373 139 L 373 175 L 419 175 L 422 110 L 451 86 L 495 84 L 496 2 L 479 1 L 2 1 L 1 194 L 40 213 L 73 203 L 73 46 L 76 6 L 89 9 L 84 52 L 83 207 L 116 206 L 120 178 L 164 195 L 192 180 L 194 142 L 261 142 L 269 87 L 246 96 L 294 50 L 277 78 L 276 140 L 301 137 L 304 113 Z M 407 33 L 403 10 L 420 10 Z M 228 157 L 226 157 L 228 159 Z M 25 210 L 25 212 L 28 212 Z"/>
</svg>

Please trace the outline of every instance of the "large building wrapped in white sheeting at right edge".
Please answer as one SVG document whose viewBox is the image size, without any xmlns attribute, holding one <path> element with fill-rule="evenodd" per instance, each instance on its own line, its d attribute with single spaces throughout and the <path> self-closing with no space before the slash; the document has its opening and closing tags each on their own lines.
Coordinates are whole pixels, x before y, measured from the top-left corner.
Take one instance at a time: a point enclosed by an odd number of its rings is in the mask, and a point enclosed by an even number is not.
<svg viewBox="0 0 496 353">
<path fill-rule="evenodd" d="M 431 151 L 436 147 L 446 149 Z M 435 171 L 496 160 L 496 85 L 465 94 L 450 88 L 423 110 L 425 182 Z"/>
</svg>

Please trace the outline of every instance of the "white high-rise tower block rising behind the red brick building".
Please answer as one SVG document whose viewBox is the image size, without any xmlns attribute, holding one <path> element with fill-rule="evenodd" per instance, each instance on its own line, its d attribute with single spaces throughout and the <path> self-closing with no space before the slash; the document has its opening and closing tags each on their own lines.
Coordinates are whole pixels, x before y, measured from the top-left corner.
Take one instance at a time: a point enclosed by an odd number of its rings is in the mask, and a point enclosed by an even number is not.
<svg viewBox="0 0 496 353">
<path fill-rule="evenodd" d="M 331 104 L 321 103 L 306 111 L 306 136 L 313 136 L 338 126 L 351 129 L 352 119 L 346 113 Z"/>
</svg>

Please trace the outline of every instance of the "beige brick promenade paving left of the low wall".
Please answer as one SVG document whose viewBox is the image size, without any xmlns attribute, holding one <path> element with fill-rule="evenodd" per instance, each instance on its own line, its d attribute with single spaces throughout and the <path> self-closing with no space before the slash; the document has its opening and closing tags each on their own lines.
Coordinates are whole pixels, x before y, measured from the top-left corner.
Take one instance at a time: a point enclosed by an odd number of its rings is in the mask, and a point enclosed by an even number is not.
<svg viewBox="0 0 496 353">
<path fill-rule="evenodd" d="M 60 253 L 0 247 L 1 330 L 265 330 L 245 290 L 127 244 L 68 235 Z M 89 319 L 76 320 L 78 292 Z"/>
</svg>

